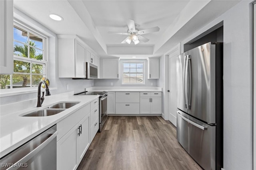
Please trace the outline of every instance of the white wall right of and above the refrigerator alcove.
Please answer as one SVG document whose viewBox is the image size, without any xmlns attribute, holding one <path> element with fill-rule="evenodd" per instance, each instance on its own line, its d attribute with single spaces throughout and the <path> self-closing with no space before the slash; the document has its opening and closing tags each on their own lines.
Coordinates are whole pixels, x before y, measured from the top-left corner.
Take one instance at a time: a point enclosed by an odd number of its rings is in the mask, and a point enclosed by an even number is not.
<svg viewBox="0 0 256 170">
<path fill-rule="evenodd" d="M 224 169 L 252 170 L 253 8 L 242 1 L 181 42 L 224 21 Z"/>
</svg>

